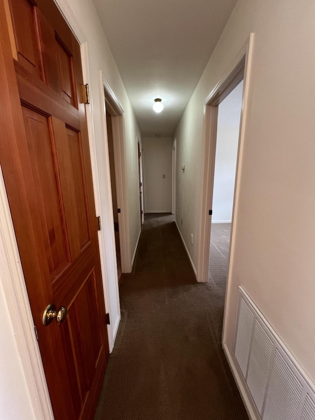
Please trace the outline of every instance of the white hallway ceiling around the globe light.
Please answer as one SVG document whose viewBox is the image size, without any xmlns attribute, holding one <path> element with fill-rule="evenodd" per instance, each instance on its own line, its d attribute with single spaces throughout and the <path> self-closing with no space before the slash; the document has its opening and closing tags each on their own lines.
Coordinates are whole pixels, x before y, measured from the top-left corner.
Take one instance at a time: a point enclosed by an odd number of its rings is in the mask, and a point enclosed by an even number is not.
<svg viewBox="0 0 315 420">
<path fill-rule="evenodd" d="M 171 136 L 237 0 L 93 1 L 142 135 Z"/>
</svg>

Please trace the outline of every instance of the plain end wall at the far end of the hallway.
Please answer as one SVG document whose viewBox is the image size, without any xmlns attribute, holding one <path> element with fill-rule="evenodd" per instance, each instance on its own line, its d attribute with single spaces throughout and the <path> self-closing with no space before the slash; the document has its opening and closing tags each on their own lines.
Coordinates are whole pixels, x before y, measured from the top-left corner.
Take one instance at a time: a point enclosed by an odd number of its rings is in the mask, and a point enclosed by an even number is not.
<svg viewBox="0 0 315 420">
<path fill-rule="evenodd" d="M 172 138 L 144 137 L 145 213 L 172 212 Z M 163 174 L 165 178 L 163 178 Z"/>
</svg>

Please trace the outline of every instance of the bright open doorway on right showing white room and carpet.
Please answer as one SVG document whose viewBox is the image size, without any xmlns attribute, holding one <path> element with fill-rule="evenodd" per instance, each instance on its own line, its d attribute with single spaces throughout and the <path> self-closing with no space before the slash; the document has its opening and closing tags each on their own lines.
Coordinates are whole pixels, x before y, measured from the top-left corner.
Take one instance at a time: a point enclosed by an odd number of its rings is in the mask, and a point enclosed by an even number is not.
<svg viewBox="0 0 315 420">
<path fill-rule="evenodd" d="M 210 236 L 209 281 L 225 290 L 230 250 L 243 80 L 219 104 Z"/>
</svg>

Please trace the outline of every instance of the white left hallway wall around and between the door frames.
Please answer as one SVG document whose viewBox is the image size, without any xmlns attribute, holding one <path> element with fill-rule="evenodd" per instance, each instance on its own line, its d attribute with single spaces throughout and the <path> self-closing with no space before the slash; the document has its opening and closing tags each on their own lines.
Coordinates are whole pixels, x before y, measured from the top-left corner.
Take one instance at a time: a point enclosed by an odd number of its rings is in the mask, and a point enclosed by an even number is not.
<svg viewBox="0 0 315 420">
<path fill-rule="evenodd" d="M 130 223 L 130 248 L 131 255 L 135 250 L 137 239 L 140 233 L 140 213 L 139 213 L 139 194 L 138 194 L 138 165 L 137 165 L 137 140 L 141 138 L 135 116 L 130 102 L 126 95 L 123 82 L 118 72 L 117 66 L 112 57 L 110 48 L 100 26 L 98 16 L 92 0 L 56 0 L 57 4 L 66 14 L 73 15 L 80 30 L 84 33 L 87 40 L 89 53 L 89 70 L 91 76 L 90 99 L 91 112 L 93 115 L 94 131 L 96 139 L 96 155 L 98 166 L 98 181 L 101 199 L 101 218 L 104 241 L 107 248 L 106 272 L 110 298 L 111 324 L 118 327 L 119 322 L 119 296 L 117 284 L 115 283 L 115 247 L 112 242 L 110 224 L 112 218 L 108 216 L 107 209 L 112 206 L 111 196 L 107 194 L 109 181 L 109 168 L 107 167 L 105 156 L 105 139 L 102 126 L 103 104 L 100 101 L 100 81 L 99 70 L 102 70 L 106 80 L 119 100 L 124 110 L 125 136 L 126 136 L 126 179 L 128 190 L 128 217 Z M 74 28 L 75 29 L 75 28 Z M 2 218 L 2 215 L 0 215 Z M 0 272 L 2 268 L 0 267 Z M 0 277 L 0 288 L 5 284 Z M 1 299 L 1 295 L 0 295 Z M 19 346 L 14 341 L 14 334 L 10 327 L 10 313 L 6 306 L 0 302 L 0 318 L 3 320 L 5 328 L 1 327 L 1 350 L 0 350 L 0 419 L 33 419 L 34 412 L 27 391 L 28 379 L 24 379 L 25 366 L 19 357 Z M 2 323 L 1 323 L 2 324 Z M 114 331 L 115 332 L 115 331 Z M 23 355 L 21 355 L 21 359 Z M 8 397 L 10 395 L 10 397 Z M 13 401 L 14 400 L 14 401 Z"/>
</svg>

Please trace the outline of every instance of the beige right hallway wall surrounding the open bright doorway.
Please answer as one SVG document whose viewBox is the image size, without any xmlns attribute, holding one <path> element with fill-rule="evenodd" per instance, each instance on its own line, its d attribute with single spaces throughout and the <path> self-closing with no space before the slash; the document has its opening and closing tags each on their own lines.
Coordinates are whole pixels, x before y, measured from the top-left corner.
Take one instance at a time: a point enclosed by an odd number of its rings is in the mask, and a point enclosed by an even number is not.
<svg viewBox="0 0 315 420">
<path fill-rule="evenodd" d="M 255 33 L 248 125 L 226 311 L 239 285 L 315 382 L 315 2 L 240 0 L 176 129 L 177 220 L 197 250 L 203 103 Z"/>
</svg>

